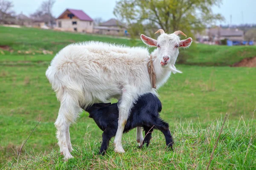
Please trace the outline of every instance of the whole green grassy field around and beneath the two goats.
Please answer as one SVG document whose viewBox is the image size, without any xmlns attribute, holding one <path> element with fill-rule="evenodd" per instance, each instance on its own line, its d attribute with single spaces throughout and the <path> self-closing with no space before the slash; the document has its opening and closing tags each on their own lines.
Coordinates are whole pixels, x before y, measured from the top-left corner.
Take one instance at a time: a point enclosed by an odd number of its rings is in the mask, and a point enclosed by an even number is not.
<svg viewBox="0 0 256 170">
<path fill-rule="evenodd" d="M 191 50 L 194 60 L 187 61 L 197 65 L 176 65 L 183 74 L 172 75 L 159 90 L 163 104 L 160 115 L 170 124 L 174 152 L 165 150 L 163 135 L 157 131 L 148 148 L 137 149 L 136 130 L 131 130 L 123 138 L 125 154 L 114 153 L 111 142 L 107 155 L 98 156 L 102 131 L 83 112 L 70 128 L 75 159 L 63 161 L 53 125 L 59 102 L 45 77 L 52 57 L 70 42 L 102 40 L 143 45 L 142 42 L 5 27 L 0 27 L 0 38 L 0 45 L 9 46 L 8 51 L 0 52 L 0 167 L 10 166 L 6 163 L 14 160 L 21 144 L 41 120 L 23 147 L 19 164 L 15 163 L 17 169 L 205 169 L 218 137 L 221 116 L 228 113 L 211 167 L 255 169 L 256 125 L 252 118 L 256 106 L 256 68 L 199 66 L 233 64 L 245 55 L 256 55 L 255 47 L 197 45 L 196 50 Z M 230 50 L 225 51 L 226 48 Z M 53 54 L 42 54 L 43 50 Z M 238 51 L 245 51 L 244 55 Z M 183 52 L 188 53 L 189 48 Z M 218 53 L 223 57 L 215 55 Z"/>
</svg>

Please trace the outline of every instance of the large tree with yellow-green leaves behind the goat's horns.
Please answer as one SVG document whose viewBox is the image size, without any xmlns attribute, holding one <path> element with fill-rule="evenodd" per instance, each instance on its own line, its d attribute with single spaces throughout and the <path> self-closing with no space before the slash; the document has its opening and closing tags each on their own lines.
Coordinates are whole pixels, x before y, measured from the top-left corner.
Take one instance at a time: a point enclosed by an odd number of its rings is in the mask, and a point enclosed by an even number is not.
<svg viewBox="0 0 256 170">
<path fill-rule="evenodd" d="M 182 30 L 189 34 L 224 20 L 211 9 L 220 3 L 221 0 L 119 0 L 113 13 L 130 25 L 128 29 L 132 23 L 153 23 L 169 33 Z"/>
</svg>

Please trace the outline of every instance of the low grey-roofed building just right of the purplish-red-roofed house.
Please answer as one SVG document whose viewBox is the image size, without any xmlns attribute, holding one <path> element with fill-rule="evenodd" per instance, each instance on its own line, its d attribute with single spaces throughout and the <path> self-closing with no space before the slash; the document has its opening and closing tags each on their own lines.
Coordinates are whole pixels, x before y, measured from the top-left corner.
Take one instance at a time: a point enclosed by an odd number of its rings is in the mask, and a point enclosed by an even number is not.
<svg viewBox="0 0 256 170">
<path fill-rule="evenodd" d="M 113 18 L 93 28 L 93 33 L 104 35 L 124 36 L 125 31 L 125 25 Z"/>
</svg>

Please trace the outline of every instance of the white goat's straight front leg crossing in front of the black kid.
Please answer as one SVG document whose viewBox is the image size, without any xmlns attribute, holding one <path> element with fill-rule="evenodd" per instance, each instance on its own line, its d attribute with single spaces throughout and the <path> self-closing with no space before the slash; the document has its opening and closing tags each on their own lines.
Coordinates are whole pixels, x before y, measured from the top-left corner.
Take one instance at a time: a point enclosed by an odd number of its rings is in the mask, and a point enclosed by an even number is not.
<svg viewBox="0 0 256 170">
<path fill-rule="evenodd" d="M 115 152 L 118 153 L 125 153 L 125 150 L 122 148 L 122 133 L 124 131 L 129 112 L 136 98 L 136 95 L 133 91 L 134 88 L 125 87 L 119 104 L 118 127 L 116 131 L 116 137 L 114 139 Z"/>
</svg>

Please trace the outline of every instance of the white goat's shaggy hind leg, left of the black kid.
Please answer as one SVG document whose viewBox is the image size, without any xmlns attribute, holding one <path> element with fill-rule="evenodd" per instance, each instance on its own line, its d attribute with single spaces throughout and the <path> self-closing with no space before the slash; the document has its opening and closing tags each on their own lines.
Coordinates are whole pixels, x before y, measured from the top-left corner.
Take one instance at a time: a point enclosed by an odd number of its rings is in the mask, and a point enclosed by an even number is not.
<svg viewBox="0 0 256 170">
<path fill-rule="evenodd" d="M 65 93 L 61 99 L 61 107 L 59 109 L 58 118 L 55 122 L 57 128 L 57 139 L 61 154 L 64 159 L 73 158 L 70 154 L 72 150 L 70 142 L 69 126 L 71 122 L 75 122 L 81 108 L 77 105 L 77 100 L 73 96 Z"/>
</svg>

